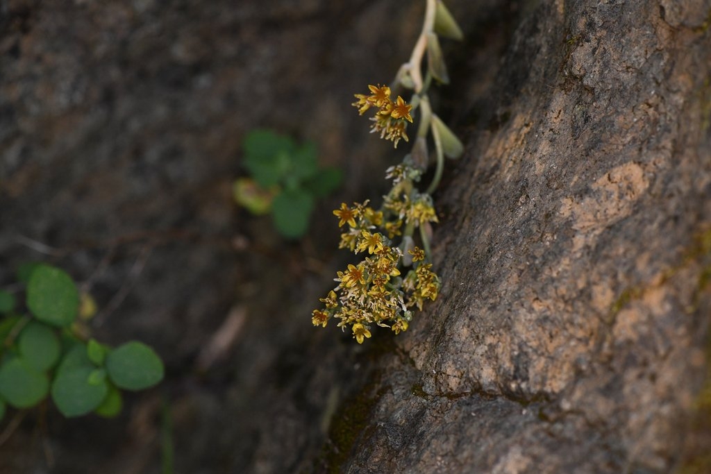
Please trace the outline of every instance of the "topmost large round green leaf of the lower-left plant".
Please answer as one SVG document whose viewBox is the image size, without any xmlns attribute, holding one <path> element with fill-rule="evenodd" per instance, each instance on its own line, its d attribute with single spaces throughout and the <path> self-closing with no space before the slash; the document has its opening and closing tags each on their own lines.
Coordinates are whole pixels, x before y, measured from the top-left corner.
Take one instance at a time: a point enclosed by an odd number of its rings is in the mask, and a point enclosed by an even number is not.
<svg viewBox="0 0 711 474">
<path fill-rule="evenodd" d="M 27 307 L 39 321 L 63 328 L 77 317 L 79 291 L 65 271 L 41 265 L 27 284 Z"/>
</svg>

